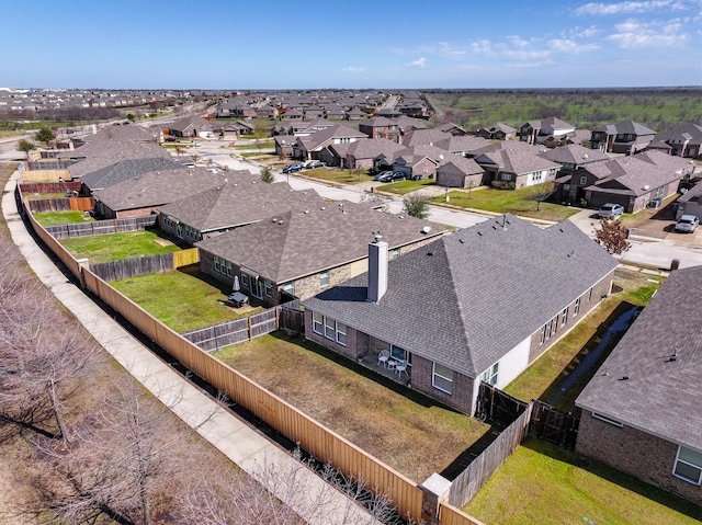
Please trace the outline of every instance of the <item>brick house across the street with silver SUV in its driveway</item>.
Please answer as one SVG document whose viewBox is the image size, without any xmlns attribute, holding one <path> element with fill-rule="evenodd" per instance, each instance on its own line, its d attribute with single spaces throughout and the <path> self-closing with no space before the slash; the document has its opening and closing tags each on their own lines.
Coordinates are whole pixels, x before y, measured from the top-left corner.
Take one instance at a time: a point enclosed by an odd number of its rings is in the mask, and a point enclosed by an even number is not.
<svg viewBox="0 0 702 525">
<path fill-rule="evenodd" d="M 679 157 L 646 151 L 574 172 L 568 193 L 574 199 L 585 198 L 590 207 L 614 203 L 633 214 L 660 205 L 678 191 L 680 180 L 689 176 L 693 168 Z"/>
</svg>

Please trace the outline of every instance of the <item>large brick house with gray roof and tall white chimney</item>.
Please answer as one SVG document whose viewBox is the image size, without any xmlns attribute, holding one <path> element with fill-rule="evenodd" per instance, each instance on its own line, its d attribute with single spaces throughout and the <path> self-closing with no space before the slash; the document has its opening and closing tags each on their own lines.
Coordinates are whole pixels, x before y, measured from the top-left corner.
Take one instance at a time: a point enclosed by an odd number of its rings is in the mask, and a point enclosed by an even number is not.
<svg viewBox="0 0 702 525">
<path fill-rule="evenodd" d="M 472 414 L 478 386 L 503 388 L 610 293 L 616 261 L 566 220 L 505 215 L 396 260 L 376 236 L 369 272 L 306 299 L 305 336 Z M 500 319 L 503 322 L 498 322 Z"/>
</svg>

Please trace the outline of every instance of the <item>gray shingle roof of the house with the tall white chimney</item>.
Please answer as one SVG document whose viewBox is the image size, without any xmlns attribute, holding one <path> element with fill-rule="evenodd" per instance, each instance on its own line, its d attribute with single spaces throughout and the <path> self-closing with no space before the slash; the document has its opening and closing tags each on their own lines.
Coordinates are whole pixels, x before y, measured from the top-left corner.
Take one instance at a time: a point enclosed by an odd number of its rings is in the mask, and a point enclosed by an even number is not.
<svg viewBox="0 0 702 525">
<path fill-rule="evenodd" d="M 378 304 L 363 274 L 304 305 L 476 377 L 615 266 L 568 220 L 540 229 L 506 215 L 392 261 Z"/>
</svg>

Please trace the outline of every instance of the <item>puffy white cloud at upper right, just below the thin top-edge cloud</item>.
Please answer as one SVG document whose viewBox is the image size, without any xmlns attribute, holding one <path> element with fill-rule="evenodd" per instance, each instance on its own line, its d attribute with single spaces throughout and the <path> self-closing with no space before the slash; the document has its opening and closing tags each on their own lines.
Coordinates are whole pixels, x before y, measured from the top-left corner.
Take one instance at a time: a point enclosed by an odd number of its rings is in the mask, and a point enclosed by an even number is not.
<svg viewBox="0 0 702 525">
<path fill-rule="evenodd" d="M 677 20 L 667 22 L 639 22 L 626 20 L 614 26 L 615 33 L 605 39 L 623 49 L 642 47 L 683 47 L 690 38 L 681 32 L 682 25 Z"/>
</svg>

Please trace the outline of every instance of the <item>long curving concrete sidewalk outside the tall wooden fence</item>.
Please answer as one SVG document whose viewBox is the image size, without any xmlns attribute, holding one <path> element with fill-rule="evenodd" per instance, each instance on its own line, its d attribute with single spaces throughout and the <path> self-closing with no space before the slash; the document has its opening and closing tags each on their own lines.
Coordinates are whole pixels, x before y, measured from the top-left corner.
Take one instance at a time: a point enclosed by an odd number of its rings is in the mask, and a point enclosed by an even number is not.
<svg viewBox="0 0 702 525">
<path fill-rule="evenodd" d="M 38 278 L 115 361 L 186 424 L 200 425 L 200 435 L 242 470 L 268 484 L 307 523 L 378 523 L 285 450 L 181 377 L 68 281 L 27 232 L 14 201 L 18 180 L 19 172 L 15 172 L 2 194 L 2 214 L 12 240 Z M 210 421 L 201 425 L 207 418 Z M 279 479 L 271 480 L 270 472 L 278 472 Z M 293 481 L 295 487 L 291 489 L 288 483 Z"/>
</svg>

